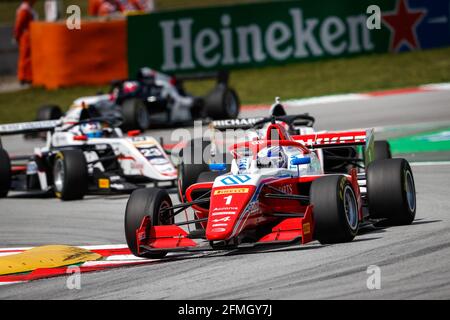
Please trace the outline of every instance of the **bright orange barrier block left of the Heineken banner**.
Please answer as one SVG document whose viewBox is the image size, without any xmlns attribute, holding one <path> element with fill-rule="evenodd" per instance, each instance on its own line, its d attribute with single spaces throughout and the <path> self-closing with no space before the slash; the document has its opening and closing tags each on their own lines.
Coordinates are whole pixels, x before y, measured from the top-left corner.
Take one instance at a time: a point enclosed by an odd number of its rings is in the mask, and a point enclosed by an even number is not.
<svg viewBox="0 0 450 320">
<path fill-rule="evenodd" d="M 31 24 L 33 85 L 55 89 L 106 84 L 128 75 L 126 20 Z"/>
</svg>

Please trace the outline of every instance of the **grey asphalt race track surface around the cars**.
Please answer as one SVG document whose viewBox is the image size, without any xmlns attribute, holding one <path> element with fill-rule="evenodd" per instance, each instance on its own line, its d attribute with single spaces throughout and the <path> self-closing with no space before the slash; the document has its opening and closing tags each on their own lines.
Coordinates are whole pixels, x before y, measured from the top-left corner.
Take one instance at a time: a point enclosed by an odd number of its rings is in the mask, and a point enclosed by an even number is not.
<svg viewBox="0 0 450 320">
<path fill-rule="evenodd" d="M 450 122 L 450 92 L 290 108 L 310 112 L 317 129 Z M 265 115 L 248 110 L 241 116 Z M 170 137 L 168 130 L 149 132 Z M 386 133 L 384 133 L 386 135 Z M 30 150 L 11 137 L 6 148 Z M 440 159 L 450 160 L 450 159 Z M 212 253 L 83 274 L 81 290 L 52 278 L 0 287 L 0 299 L 449 299 L 450 165 L 414 166 L 418 209 L 411 226 L 365 230 L 351 243 L 313 242 L 265 251 Z M 0 246 L 120 244 L 126 196 L 0 200 Z M 369 290 L 368 266 L 381 268 Z"/>
</svg>

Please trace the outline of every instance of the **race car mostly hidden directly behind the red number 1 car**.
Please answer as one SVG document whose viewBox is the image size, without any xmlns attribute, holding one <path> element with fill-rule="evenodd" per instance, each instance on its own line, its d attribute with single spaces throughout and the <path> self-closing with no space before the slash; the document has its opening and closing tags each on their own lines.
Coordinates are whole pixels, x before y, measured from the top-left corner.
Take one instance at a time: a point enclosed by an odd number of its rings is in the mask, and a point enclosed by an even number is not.
<svg viewBox="0 0 450 320">
<path fill-rule="evenodd" d="M 179 143 L 172 154 L 179 156 L 178 160 L 178 193 L 179 199 L 185 201 L 187 188 L 206 176 L 214 177 L 210 171 L 209 163 L 227 163 L 231 169 L 231 154 L 227 146 L 236 141 L 265 139 L 267 128 L 275 117 L 275 122 L 281 125 L 290 135 L 301 136 L 300 141 L 311 146 L 314 141 L 317 154 L 324 173 L 348 173 L 350 168 L 361 167 L 363 164 L 362 149 L 355 144 L 340 143 L 341 139 L 358 138 L 350 132 L 339 137 L 333 132 L 326 135 L 326 131 L 314 129 L 315 118 L 308 113 L 288 115 L 277 98 L 268 117 L 239 118 L 215 120 L 209 124 L 204 137 L 194 137 L 185 143 Z M 316 137 L 317 134 L 321 134 Z M 321 148 L 317 146 L 321 145 Z M 178 151 L 179 150 L 179 151 Z M 386 140 L 374 142 L 374 159 L 389 159 L 392 157 L 390 145 Z"/>
</svg>

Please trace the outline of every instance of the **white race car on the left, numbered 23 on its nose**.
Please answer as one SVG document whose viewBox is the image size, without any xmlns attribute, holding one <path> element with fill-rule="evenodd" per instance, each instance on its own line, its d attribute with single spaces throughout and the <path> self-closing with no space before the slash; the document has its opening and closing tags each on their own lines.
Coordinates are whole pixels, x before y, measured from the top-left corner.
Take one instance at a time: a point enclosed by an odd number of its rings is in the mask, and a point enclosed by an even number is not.
<svg viewBox="0 0 450 320">
<path fill-rule="evenodd" d="M 9 156 L 0 148 L 0 197 L 10 190 L 55 194 L 62 200 L 88 193 L 129 193 L 145 183 L 173 184 L 177 170 L 154 138 L 129 131 L 109 108 L 73 106 L 59 120 L 0 125 L 0 136 L 47 132 L 34 154 Z"/>
</svg>

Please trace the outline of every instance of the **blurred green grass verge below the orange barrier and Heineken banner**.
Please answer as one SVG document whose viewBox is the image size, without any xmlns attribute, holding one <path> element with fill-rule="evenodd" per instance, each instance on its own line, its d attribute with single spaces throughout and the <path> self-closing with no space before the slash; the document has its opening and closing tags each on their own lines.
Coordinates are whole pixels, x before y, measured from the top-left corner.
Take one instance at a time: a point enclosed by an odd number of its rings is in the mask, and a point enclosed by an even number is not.
<svg viewBox="0 0 450 320">
<path fill-rule="evenodd" d="M 272 103 L 275 96 L 289 99 L 449 82 L 450 48 L 237 70 L 231 73 L 230 81 L 243 104 Z M 186 83 L 187 90 L 196 95 L 212 86 L 212 81 Z M 67 108 L 80 96 L 106 89 L 31 88 L 3 93 L 0 123 L 32 120 L 39 105 L 56 103 Z"/>
</svg>

